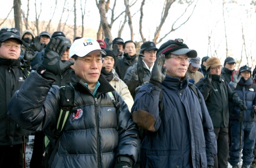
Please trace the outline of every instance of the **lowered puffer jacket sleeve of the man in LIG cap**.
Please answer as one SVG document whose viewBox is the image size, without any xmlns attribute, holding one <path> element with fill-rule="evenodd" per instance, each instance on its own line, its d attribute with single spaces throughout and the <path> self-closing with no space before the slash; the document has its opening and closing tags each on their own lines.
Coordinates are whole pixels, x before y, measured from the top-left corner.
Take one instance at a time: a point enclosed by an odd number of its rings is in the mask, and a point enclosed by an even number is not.
<svg viewBox="0 0 256 168">
<path fill-rule="evenodd" d="M 119 156 L 127 156 L 133 160 L 133 165 L 137 162 L 140 139 L 137 125 L 132 121 L 126 103 L 122 97 L 115 92 L 116 100 L 121 103 L 118 115 L 118 147 L 116 150 L 116 158 Z"/>
</svg>

